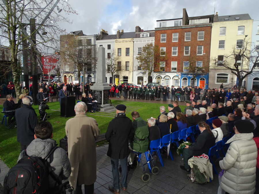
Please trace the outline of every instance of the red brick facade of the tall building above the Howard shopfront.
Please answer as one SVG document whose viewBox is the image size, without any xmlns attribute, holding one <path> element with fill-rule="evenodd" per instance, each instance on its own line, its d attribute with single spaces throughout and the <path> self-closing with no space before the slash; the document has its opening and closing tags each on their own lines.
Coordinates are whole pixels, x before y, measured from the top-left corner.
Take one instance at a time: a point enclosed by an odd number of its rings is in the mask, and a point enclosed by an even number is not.
<svg viewBox="0 0 259 194">
<path fill-rule="evenodd" d="M 184 55 L 184 46 L 190 46 L 190 55 L 195 56 L 197 61 L 203 62 L 203 68 L 208 69 L 210 61 L 211 25 L 182 26 L 179 29 L 155 31 L 155 45 L 166 47 L 167 60 L 165 61 L 165 72 L 171 72 L 171 62 L 177 61 L 177 72 L 183 72 L 184 61 L 189 61 L 189 56 Z M 204 40 L 198 41 L 198 32 L 204 31 Z M 191 41 L 184 41 L 185 32 L 191 32 Z M 178 42 L 172 42 L 173 33 L 178 33 Z M 166 34 L 166 42 L 161 43 L 161 34 Z M 203 46 L 203 55 L 197 55 L 197 46 Z M 172 47 L 178 47 L 177 56 L 172 56 Z"/>
</svg>

